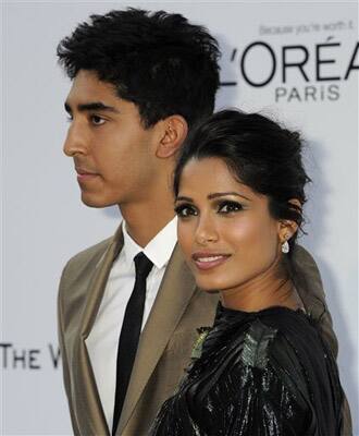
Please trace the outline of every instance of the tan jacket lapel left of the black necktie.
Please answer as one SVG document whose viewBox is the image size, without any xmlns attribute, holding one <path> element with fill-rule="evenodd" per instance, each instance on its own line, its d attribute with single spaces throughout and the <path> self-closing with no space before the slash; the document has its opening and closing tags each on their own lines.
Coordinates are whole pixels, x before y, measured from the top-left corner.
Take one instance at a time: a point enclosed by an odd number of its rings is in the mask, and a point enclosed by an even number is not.
<svg viewBox="0 0 359 436">
<path fill-rule="evenodd" d="M 81 322 L 76 377 L 78 392 L 82 398 L 82 413 L 79 413 L 78 416 L 83 422 L 79 423 L 79 427 L 88 428 L 88 434 L 94 435 L 109 435 L 109 429 L 85 340 L 94 326 L 113 261 L 119 255 L 122 246 L 123 234 L 120 226 L 113 241 L 104 252 L 99 264 L 95 267 L 94 275 L 88 286 L 86 305 Z"/>
</svg>

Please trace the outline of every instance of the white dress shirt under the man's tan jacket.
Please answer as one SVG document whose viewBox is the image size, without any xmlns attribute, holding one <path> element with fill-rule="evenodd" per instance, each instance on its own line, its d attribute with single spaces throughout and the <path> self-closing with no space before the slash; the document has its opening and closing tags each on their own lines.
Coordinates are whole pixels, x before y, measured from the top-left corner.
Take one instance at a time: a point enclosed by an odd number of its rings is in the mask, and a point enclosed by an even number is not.
<svg viewBox="0 0 359 436">
<path fill-rule="evenodd" d="M 134 257 L 139 252 L 153 263 L 147 277 L 143 328 L 152 308 L 165 267 L 177 241 L 176 217 L 173 218 L 146 246 L 140 247 L 129 237 L 122 222 L 124 245 L 114 261 L 104 289 L 94 327 L 86 339 L 95 379 L 104 416 L 111 433 L 116 387 L 116 359 L 119 338 L 125 310 L 135 284 Z"/>
</svg>

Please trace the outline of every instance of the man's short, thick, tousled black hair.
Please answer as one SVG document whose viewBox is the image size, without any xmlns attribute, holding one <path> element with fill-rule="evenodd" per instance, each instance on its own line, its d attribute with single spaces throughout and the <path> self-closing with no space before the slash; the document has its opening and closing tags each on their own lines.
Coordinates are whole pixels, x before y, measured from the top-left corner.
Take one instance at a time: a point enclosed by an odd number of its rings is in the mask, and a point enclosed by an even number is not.
<svg viewBox="0 0 359 436">
<path fill-rule="evenodd" d="M 216 40 L 181 14 L 128 8 L 91 15 L 58 46 L 70 78 L 90 70 L 133 101 L 146 128 L 171 114 L 191 126 L 214 110 Z"/>
</svg>

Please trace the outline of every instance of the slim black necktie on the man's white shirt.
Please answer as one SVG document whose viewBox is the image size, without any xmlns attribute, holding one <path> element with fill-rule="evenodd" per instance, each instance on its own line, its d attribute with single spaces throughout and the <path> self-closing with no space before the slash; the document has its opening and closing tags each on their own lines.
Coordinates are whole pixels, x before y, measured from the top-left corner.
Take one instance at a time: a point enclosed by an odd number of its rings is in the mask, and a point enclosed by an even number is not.
<svg viewBox="0 0 359 436">
<path fill-rule="evenodd" d="M 153 266 L 151 261 L 148 259 L 143 252 L 138 253 L 134 261 L 136 268 L 135 287 L 126 306 L 119 340 L 116 392 L 114 400 L 112 435 L 115 434 L 117 428 L 132 367 L 134 365 L 140 328 L 143 325 L 146 300 L 146 279 Z"/>
</svg>

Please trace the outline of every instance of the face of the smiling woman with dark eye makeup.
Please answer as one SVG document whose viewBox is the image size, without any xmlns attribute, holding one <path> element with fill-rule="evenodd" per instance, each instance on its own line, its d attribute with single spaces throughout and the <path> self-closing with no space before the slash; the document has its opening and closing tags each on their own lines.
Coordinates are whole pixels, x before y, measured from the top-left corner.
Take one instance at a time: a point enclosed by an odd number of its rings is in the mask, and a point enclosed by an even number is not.
<svg viewBox="0 0 359 436">
<path fill-rule="evenodd" d="M 239 183 L 220 158 L 188 161 L 175 208 L 180 245 L 203 290 L 235 290 L 278 258 L 281 223 L 268 197 Z"/>
</svg>

